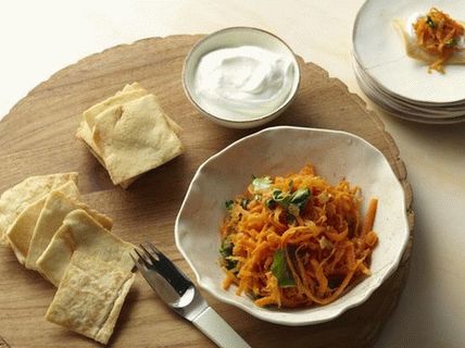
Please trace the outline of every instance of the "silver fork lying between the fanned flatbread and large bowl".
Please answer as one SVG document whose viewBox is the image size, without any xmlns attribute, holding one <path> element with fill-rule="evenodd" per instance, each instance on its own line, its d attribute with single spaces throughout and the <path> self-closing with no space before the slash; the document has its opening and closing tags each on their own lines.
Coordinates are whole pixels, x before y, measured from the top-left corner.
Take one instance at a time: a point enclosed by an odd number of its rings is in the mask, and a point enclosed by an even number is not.
<svg viewBox="0 0 465 348">
<path fill-rule="evenodd" d="M 250 346 L 203 299 L 192 282 L 154 245 L 140 245 L 130 253 L 136 266 L 160 298 L 176 313 L 190 321 L 218 347 Z"/>
</svg>

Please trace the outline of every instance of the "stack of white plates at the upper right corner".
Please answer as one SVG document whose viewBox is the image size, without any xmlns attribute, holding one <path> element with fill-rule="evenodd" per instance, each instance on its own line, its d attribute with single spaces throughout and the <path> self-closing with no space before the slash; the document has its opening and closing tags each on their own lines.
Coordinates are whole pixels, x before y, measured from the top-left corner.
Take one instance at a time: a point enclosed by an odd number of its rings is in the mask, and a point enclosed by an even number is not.
<svg viewBox="0 0 465 348">
<path fill-rule="evenodd" d="M 465 1 L 436 1 L 452 18 L 465 21 Z M 394 21 L 425 14 L 420 0 L 367 0 L 353 27 L 353 67 L 360 87 L 389 113 L 423 123 L 465 122 L 465 64 L 445 65 L 445 74 L 428 73 L 426 63 L 405 53 Z"/>
</svg>

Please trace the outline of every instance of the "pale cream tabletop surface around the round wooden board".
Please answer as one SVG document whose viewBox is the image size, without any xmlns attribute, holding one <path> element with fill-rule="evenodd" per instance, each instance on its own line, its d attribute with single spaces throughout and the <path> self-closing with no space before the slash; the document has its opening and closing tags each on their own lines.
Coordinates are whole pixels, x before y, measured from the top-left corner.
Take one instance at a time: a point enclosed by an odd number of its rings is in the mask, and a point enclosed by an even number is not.
<svg viewBox="0 0 465 348">
<path fill-rule="evenodd" d="M 53 72 L 90 53 L 144 37 L 206 34 L 237 25 L 273 32 L 305 61 L 323 66 L 366 99 L 350 55 L 352 24 L 362 3 L 0 2 L 0 119 Z M 465 123 L 415 124 L 384 114 L 369 101 L 368 105 L 380 113 L 400 148 L 416 213 L 410 278 L 377 347 L 464 347 Z"/>
</svg>

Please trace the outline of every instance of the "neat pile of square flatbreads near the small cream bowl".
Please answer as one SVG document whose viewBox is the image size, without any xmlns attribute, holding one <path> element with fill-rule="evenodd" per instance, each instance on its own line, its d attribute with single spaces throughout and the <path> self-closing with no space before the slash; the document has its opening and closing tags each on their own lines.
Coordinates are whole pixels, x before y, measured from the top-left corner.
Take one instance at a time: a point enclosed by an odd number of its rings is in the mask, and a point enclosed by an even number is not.
<svg viewBox="0 0 465 348">
<path fill-rule="evenodd" d="M 113 184 L 127 188 L 141 174 L 183 153 L 180 130 L 155 96 L 134 83 L 86 110 L 76 136 Z"/>
</svg>

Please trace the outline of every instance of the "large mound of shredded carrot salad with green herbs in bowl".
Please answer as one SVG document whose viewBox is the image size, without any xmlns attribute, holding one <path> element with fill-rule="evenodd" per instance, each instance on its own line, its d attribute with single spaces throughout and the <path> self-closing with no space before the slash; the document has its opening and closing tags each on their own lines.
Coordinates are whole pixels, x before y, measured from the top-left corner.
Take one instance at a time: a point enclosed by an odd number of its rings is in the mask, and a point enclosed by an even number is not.
<svg viewBox="0 0 465 348">
<path fill-rule="evenodd" d="M 377 200 L 361 216 L 361 192 L 336 186 L 307 164 L 287 176 L 254 177 L 226 202 L 221 226 L 223 287 L 251 296 L 256 306 L 327 304 L 370 274 L 378 237 Z"/>
</svg>

